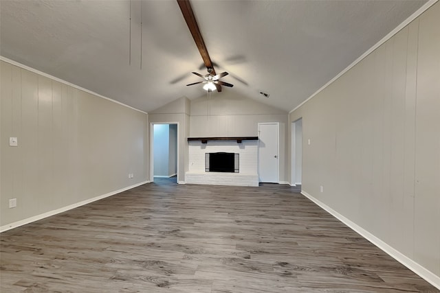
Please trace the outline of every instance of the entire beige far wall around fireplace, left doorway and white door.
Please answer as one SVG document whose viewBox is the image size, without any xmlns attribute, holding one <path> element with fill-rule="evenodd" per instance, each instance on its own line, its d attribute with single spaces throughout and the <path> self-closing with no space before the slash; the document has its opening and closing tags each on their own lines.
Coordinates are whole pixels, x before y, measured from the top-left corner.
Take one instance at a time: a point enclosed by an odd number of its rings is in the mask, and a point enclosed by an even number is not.
<svg viewBox="0 0 440 293">
<path fill-rule="evenodd" d="M 188 172 L 188 137 L 256 137 L 259 122 L 280 124 L 280 182 L 289 181 L 289 164 L 286 148 L 287 118 L 285 110 L 273 108 L 253 99 L 236 95 L 234 91 L 212 93 L 189 100 L 181 97 L 162 108 L 148 113 L 151 124 L 179 123 L 178 180 L 183 183 Z"/>
</svg>

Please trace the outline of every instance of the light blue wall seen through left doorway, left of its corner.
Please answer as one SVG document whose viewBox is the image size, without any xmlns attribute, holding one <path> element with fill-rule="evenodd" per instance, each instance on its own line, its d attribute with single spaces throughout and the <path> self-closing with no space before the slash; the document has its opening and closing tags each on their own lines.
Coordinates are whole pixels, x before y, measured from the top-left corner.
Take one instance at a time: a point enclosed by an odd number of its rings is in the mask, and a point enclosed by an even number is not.
<svg viewBox="0 0 440 293">
<path fill-rule="evenodd" d="M 170 126 L 168 124 L 155 124 L 153 138 L 154 176 L 168 177 Z"/>
</svg>

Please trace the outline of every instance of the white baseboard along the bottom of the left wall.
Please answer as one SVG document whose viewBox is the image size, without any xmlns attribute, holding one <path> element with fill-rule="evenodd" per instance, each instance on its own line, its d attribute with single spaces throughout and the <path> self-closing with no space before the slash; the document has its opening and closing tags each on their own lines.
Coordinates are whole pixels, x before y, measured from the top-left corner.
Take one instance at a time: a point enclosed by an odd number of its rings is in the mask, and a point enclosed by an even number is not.
<svg viewBox="0 0 440 293">
<path fill-rule="evenodd" d="M 89 198 L 87 200 L 76 202 L 74 204 L 69 204 L 68 206 L 61 207 L 59 209 L 54 209 L 53 211 L 47 211 L 46 213 L 41 213 L 40 215 L 34 215 L 33 217 L 30 217 L 30 218 L 27 218 L 27 219 L 24 219 L 24 220 L 19 220 L 17 222 L 13 222 L 13 223 L 10 223 L 10 224 L 6 224 L 6 225 L 3 225 L 3 226 L 0 226 L 0 233 L 8 231 L 8 230 L 13 229 L 13 228 L 17 228 L 19 226 L 23 226 L 25 224 L 29 224 L 29 223 L 32 223 L 32 222 L 35 222 L 35 221 L 38 221 L 38 220 L 50 217 L 51 215 L 56 215 L 57 213 L 63 213 L 65 211 L 69 211 L 70 209 L 75 209 L 76 207 L 81 207 L 81 206 L 83 206 L 85 204 L 89 204 L 90 202 L 96 202 L 96 200 L 102 200 L 102 198 L 108 198 L 109 196 L 114 196 L 115 194 L 119 194 L 122 191 L 126 191 L 126 190 L 132 189 L 134 187 L 137 187 L 137 186 L 140 186 L 140 185 L 144 185 L 146 183 L 150 183 L 150 181 L 148 181 L 148 180 L 142 181 L 141 183 L 136 183 L 135 185 L 131 185 L 129 187 L 124 187 L 122 189 L 111 191 L 108 194 L 102 194 L 101 196 L 96 196 L 94 198 Z"/>
</svg>

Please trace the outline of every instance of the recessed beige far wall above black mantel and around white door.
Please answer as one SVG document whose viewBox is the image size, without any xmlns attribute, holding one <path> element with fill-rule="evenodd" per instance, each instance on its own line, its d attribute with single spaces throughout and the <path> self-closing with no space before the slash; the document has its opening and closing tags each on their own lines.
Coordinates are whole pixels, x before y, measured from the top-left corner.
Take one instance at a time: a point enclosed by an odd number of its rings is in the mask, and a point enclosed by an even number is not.
<svg viewBox="0 0 440 293">
<path fill-rule="evenodd" d="M 233 89 L 191 100 L 190 137 L 258 137 L 259 122 L 279 122 L 279 180 L 288 183 L 285 110 L 236 94 Z"/>
</svg>

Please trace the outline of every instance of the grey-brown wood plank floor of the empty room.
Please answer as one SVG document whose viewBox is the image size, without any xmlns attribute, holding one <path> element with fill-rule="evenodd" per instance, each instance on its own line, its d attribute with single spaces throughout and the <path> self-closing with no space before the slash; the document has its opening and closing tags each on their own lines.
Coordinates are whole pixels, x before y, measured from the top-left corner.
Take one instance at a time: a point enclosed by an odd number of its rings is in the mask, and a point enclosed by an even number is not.
<svg viewBox="0 0 440 293">
<path fill-rule="evenodd" d="M 1 292 L 439 292 L 286 185 L 157 179 L 1 234 Z"/>
</svg>

